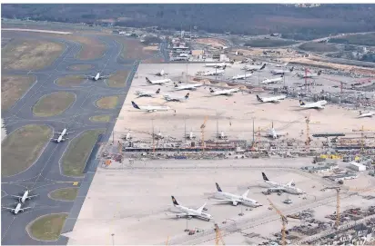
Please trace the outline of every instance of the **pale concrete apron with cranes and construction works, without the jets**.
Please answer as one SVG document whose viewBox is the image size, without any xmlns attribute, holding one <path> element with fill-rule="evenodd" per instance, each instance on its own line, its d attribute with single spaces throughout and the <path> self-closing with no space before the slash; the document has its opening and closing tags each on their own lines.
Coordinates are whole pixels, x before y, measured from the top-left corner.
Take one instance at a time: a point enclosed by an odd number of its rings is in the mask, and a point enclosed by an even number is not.
<svg viewBox="0 0 375 246">
<path fill-rule="evenodd" d="M 89 199 L 75 230 L 66 233 L 69 244 L 373 240 L 375 124 L 372 117 L 359 117 L 375 105 L 374 90 L 360 88 L 373 85 L 349 89 L 344 84 L 356 84 L 357 78 L 327 72 L 314 79 L 290 74 L 280 84 L 261 84 L 272 76 L 271 65 L 245 80 L 230 79 L 244 73 L 242 66 L 231 64 L 221 76 L 203 76 L 198 72 L 208 70 L 205 64 L 139 65 L 112 138 L 98 153 Z M 161 70 L 167 75 L 157 78 Z M 171 81 L 147 84 L 146 78 Z M 178 84 L 202 85 L 177 91 Z M 212 95 L 233 88 L 238 92 Z M 156 96 L 138 96 L 158 89 Z M 187 100 L 166 100 L 186 94 Z M 287 98 L 262 103 L 256 96 L 275 94 Z M 324 109 L 300 107 L 299 100 L 323 99 L 328 102 Z M 167 110 L 148 110 L 153 106 Z M 269 192 L 261 172 L 273 181 L 292 180 L 304 193 Z M 213 201 L 215 182 L 226 192 L 248 189 L 248 197 L 262 206 Z M 214 219 L 176 218 L 171 195 L 190 208 L 207 202 L 204 210 Z"/>
</svg>

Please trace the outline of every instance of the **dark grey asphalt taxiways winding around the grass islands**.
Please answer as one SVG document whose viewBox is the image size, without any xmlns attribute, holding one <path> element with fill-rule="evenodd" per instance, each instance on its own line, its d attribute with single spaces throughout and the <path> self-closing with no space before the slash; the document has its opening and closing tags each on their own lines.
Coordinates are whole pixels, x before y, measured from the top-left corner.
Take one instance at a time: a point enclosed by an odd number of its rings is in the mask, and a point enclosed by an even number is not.
<svg viewBox="0 0 375 246">
<path fill-rule="evenodd" d="M 2 32 L 2 38 L 27 37 L 40 39 L 37 33 L 17 33 L 13 31 Z M 36 241 L 32 239 L 25 227 L 37 217 L 49 213 L 67 212 L 69 213 L 63 232 L 73 230 L 77 215 L 86 198 L 86 193 L 96 172 L 98 161 L 96 160 L 97 145 L 94 147 L 91 156 L 86 163 L 86 173 L 81 178 L 67 177 L 60 170 L 60 160 L 67 150 L 69 143 L 79 134 L 90 129 L 106 129 L 100 136 L 100 142 L 106 142 L 113 130 L 116 119 L 127 92 L 130 88 L 134 74 L 140 61 L 124 60 L 120 57 L 122 45 L 111 39 L 110 36 L 93 36 L 100 42 L 106 44 L 105 54 L 94 60 L 81 61 L 76 59 L 76 54 L 81 50 L 81 45 L 61 38 L 46 38 L 65 44 L 66 50 L 56 61 L 41 70 L 37 71 L 5 71 L 3 74 L 35 75 L 35 84 L 19 99 L 8 111 L 2 112 L 8 134 L 26 124 L 46 124 L 54 132 L 61 132 L 67 128 L 68 140 L 62 143 L 50 142 L 40 154 L 35 163 L 25 170 L 10 177 L 2 178 L 2 206 L 15 207 L 18 202 L 14 195 L 22 195 L 25 189 L 31 189 L 31 195 L 38 194 L 37 197 L 25 202 L 25 207 L 32 209 L 14 215 L 12 212 L 2 210 L 2 238 L 1 243 L 7 245 L 24 244 L 57 244 L 64 245 L 67 238 L 61 236 L 58 241 Z M 91 64 L 92 68 L 86 71 L 74 71 L 68 67 L 73 64 Z M 86 80 L 85 83 L 73 87 L 63 87 L 55 84 L 56 80 L 70 74 L 102 75 L 114 74 L 117 70 L 129 70 L 127 84 L 124 88 L 110 88 L 103 80 Z M 126 78 L 124 78 L 126 79 Z M 32 113 L 33 105 L 44 95 L 53 92 L 65 91 L 76 94 L 76 102 L 73 103 L 64 113 L 52 117 L 36 117 Z M 116 109 L 102 110 L 96 107 L 97 99 L 107 95 L 118 95 L 119 103 Z M 89 120 L 93 115 L 110 114 L 109 123 L 94 123 Z M 58 136 L 58 134 L 55 134 Z M 75 202 L 60 202 L 48 197 L 48 193 L 56 189 L 66 187 L 76 187 L 73 182 L 78 182 L 80 190 Z"/>
</svg>

